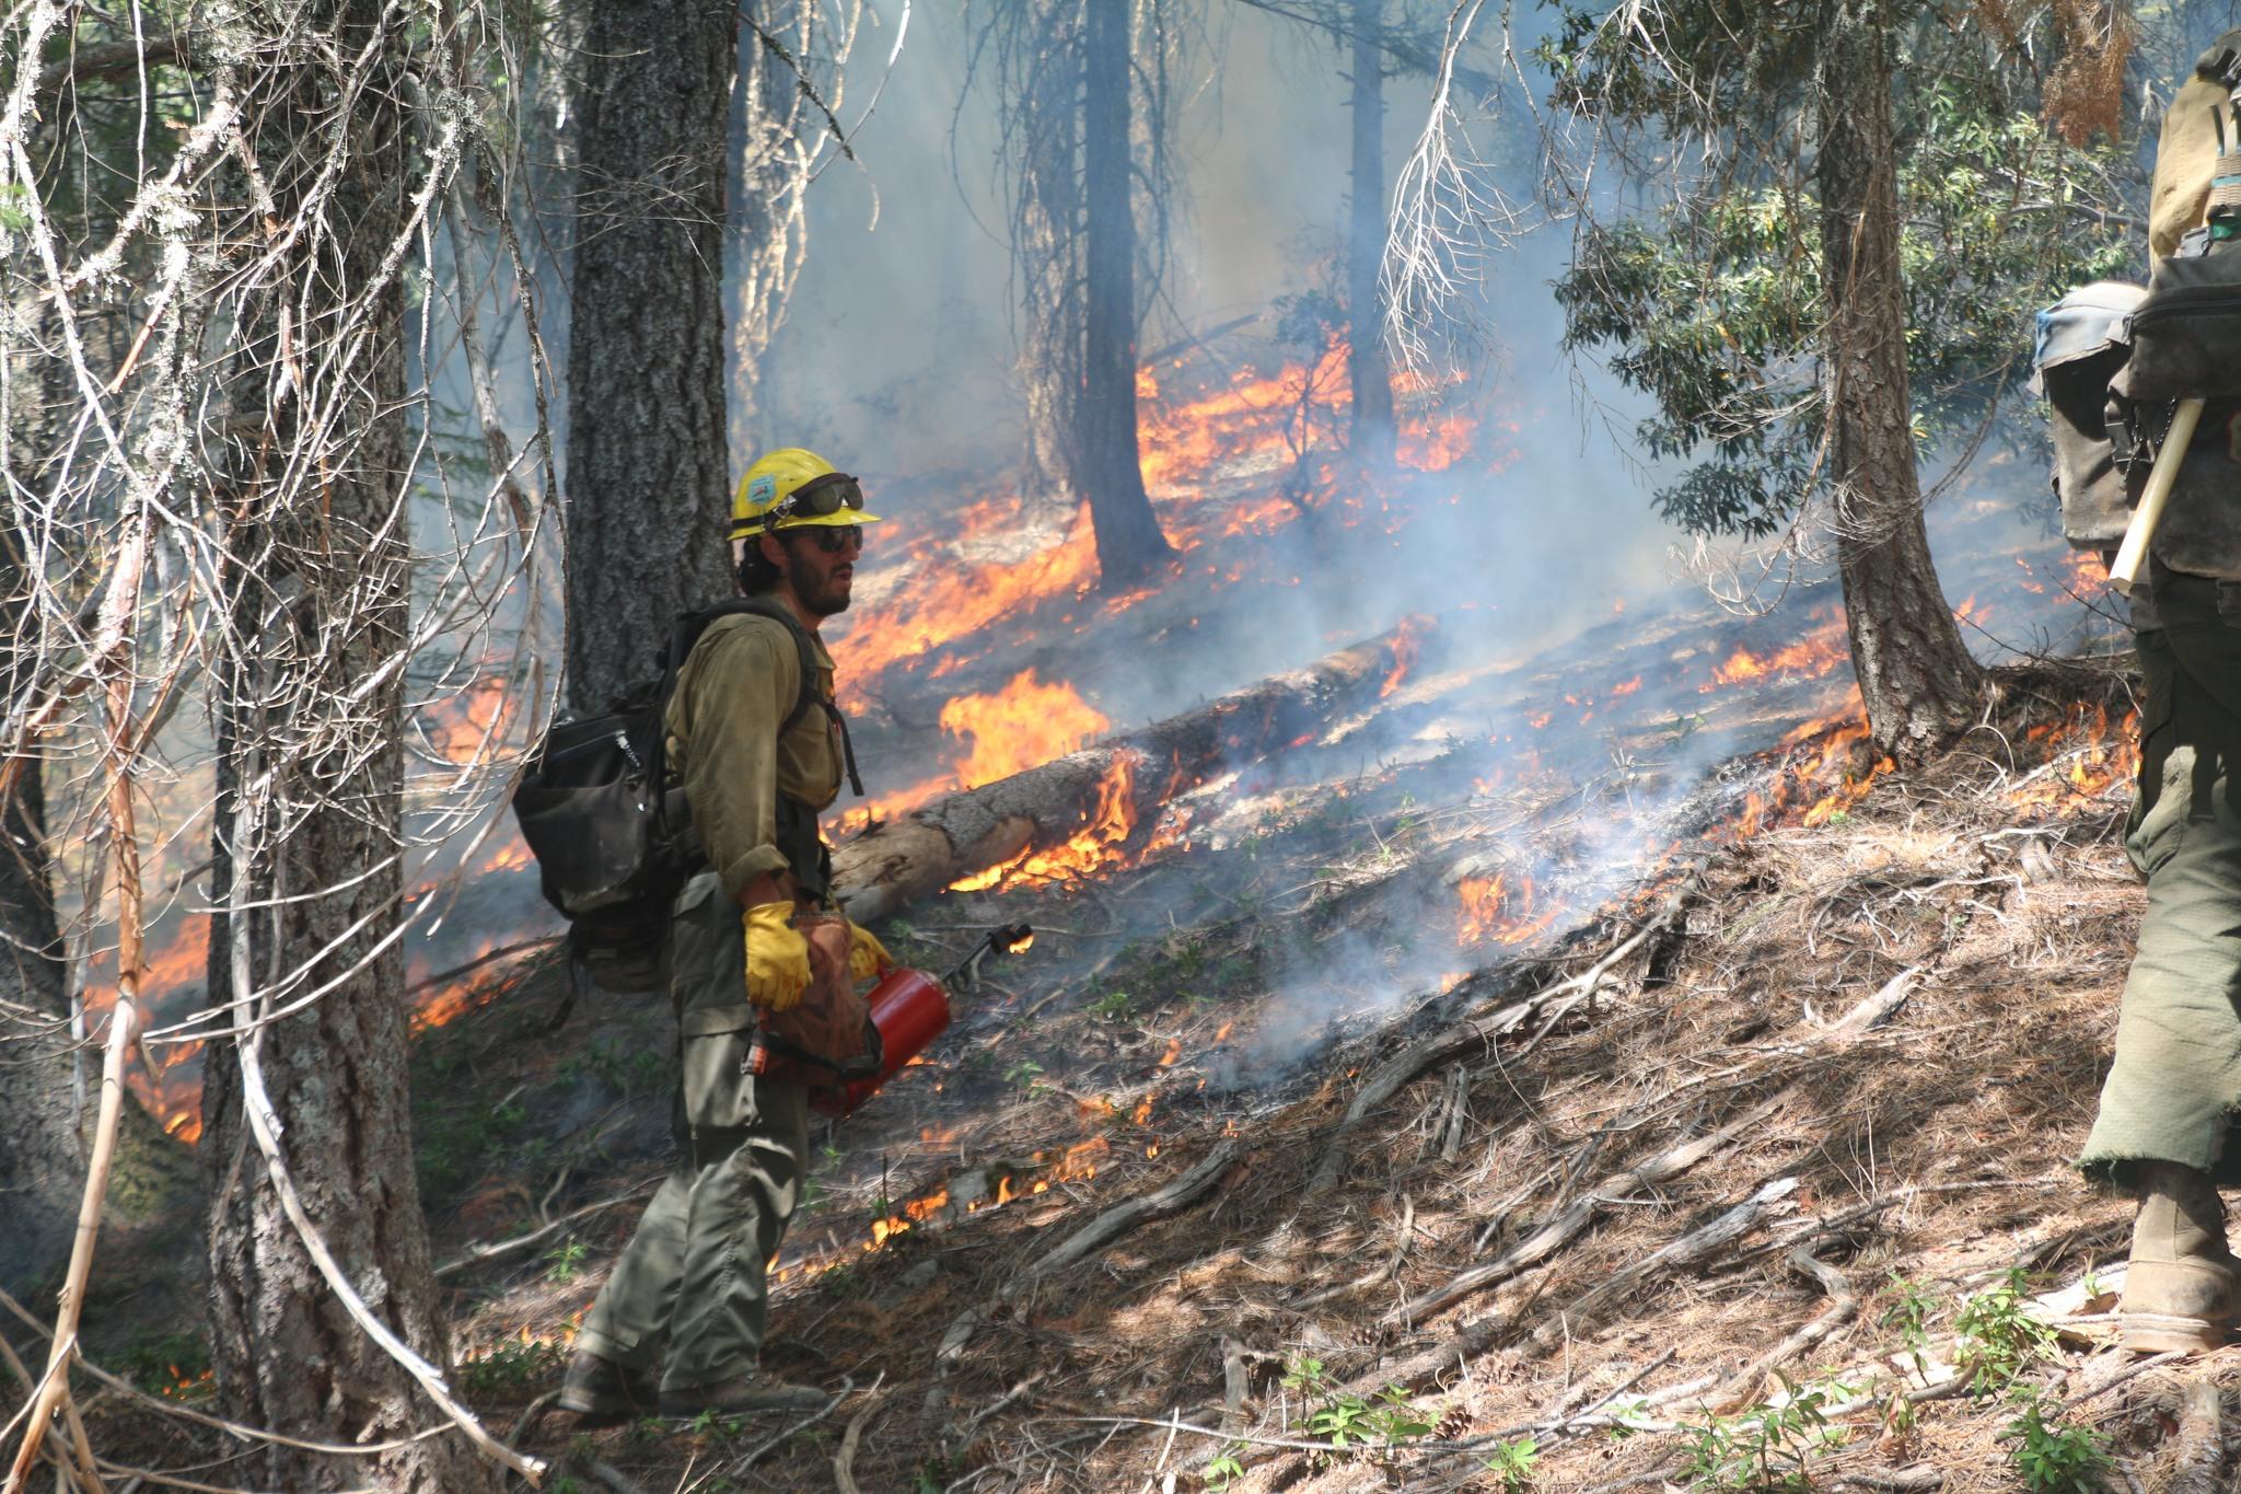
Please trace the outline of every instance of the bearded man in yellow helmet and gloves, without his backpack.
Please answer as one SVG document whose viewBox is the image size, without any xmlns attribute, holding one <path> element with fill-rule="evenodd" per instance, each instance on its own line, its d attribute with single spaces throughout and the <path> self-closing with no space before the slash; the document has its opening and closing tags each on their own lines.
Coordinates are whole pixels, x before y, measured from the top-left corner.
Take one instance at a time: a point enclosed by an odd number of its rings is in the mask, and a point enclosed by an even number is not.
<svg viewBox="0 0 2241 1494">
<path fill-rule="evenodd" d="M 863 526 L 876 522 L 854 477 L 800 448 L 755 461 L 733 497 L 740 589 L 807 629 L 818 679 L 802 690 L 805 641 L 787 620 L 724 616 L 695 643 L 663 717 L 708 862 L 677 894 L 668 947 L 679 1160 L 576 1335 L 560 1407 L 585 1422 L 825 1404 L 757 1369 L 764 1263 L 800 1203 L 809 1113 L 805 1086 L 751 1073 L 751 1051 L 762 1012 L 791 1010 L 805 990 L 816 999 L 811 921 L 840 930 L 852 977 L 892 963 L 872 934 L 829 916 L 818 838 L 818 811 L 854 773 L 818 627 L 847 609 Z"/>
</svg>

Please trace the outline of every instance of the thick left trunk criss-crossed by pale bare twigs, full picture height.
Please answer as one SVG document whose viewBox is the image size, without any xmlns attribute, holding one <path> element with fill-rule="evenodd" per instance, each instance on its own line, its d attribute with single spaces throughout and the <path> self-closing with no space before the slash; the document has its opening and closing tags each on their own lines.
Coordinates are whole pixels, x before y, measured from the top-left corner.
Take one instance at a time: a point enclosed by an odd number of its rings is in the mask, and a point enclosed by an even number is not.
<svg viewBox="0 0 2241 1494">
<path fill-rule="evenodd" d="M 264 421 L 249 441 L 242 508 L 226 533 L 233 654 L 217 681 L 220 800 L 211 990 L 233 999 L 235 1039 L 204 1075 L 211 1366 L 220 1407 L 309 1440 L 385 1442 L 437 1413 L 345 1313 L 287 1216 L 276 1169 L 249 1136 L 242 1048 L 255 1044 L 278 1154 L 296 1196 L 368 1308 L 433 1364 L 448 1333 L 412 1176 L 406 1093 L 403 679 L 408 488 L 403 282 L 376 289 L 426 157 L 408 137 L 401 18 L 381 0 L 251 9 L 244 52 L 267 58 L 253 155 L 276 215 L 298 233 L 244 309 L 229 396 Z M 385 36 L 379 36 L 385 31 Z M 372 58 L 345 94 L 345 67 Z M 347 103 L 345 103 L 347 96 Z M 334 152 L 334 195 L 307 197 Z M 368 343 L 343 343 L 345 302 Z M 343 363 L 347 358 L 347 363 Z M 320 403 L 311 405 L 314 392 Z M 320 417 L 314 421 L 309 410 Z M 379 952 L 376 952 L 379 950 Z M 294 992 L 309 1008 L 247 1024 Z M 235 1478 L 278 1490 L 368 1483 L 412 1494 L 495 1494 L 457 1434 L 363 1458 L 249 1442 Z"/>
</svg>

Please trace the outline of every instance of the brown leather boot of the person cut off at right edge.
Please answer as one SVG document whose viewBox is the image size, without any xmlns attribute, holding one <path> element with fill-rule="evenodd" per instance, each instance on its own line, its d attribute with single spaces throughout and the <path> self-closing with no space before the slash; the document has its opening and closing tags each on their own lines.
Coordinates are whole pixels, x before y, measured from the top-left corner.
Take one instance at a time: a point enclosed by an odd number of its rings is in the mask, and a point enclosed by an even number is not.
<svg viewBox="0 0 2241 1494">
<path fill-rule="evenodd" d="M 2140 1162 L 2140 1216 L 2124 1272 L 2122 1344 L 2133 1353 L 2216 1348 L 2241 1297 L 2216 1185 L 2178 1162 Z"/>
</svg>

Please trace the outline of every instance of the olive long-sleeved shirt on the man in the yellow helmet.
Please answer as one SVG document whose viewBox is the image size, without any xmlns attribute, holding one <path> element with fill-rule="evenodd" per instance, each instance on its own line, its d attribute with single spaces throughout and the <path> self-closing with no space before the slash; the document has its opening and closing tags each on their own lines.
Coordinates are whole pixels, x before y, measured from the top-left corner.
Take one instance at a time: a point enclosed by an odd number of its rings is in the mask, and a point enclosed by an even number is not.
<svg viewBox="0 0 2241 1494">
<path fill-rule="evenodd" d="M 809 634 L 816 690 L 831 699 L 834 659 Z M 778 735 L 800 699 L 802 654 L 784 623 L 735 614 L 699 636 L 663 715 L 670 766 L 692 806 L 708 867 L 733 898 L 764 871 L 784 871 L 778 795 L 822 811 L 840 795 L 840 728 L 809 706 Z"/>
</svg>

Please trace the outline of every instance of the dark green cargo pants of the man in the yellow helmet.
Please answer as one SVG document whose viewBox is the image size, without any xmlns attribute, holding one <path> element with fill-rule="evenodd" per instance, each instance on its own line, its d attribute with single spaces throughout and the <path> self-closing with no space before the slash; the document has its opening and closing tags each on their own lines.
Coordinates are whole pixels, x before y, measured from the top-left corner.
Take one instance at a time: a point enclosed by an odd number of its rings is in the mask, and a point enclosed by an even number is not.
<svg viewBox="0 0 2241 1494">
<path fill-rule="evenodd" d="M 746 1071 L 755 1008 L 740 909 L 715 874 L 677 894 L 670 1003 L 677 1169 L 645 1205 L 576 1346 L 634 1373 L 659 1366 L 661 1389 L 684 1391 L 755 1373 L 764 1266 L 809 1165 L 809 1091 L 760 1084 Z"/>
</svg>

